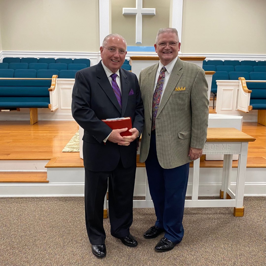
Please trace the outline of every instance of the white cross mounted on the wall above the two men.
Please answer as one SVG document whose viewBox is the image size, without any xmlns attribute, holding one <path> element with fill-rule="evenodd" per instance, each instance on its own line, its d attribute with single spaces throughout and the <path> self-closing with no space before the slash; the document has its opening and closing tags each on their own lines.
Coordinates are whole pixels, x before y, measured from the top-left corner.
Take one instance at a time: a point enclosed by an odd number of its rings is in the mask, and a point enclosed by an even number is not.
<svg viewBox="0 0 266 266">
<path fill-rule="evenodd" d="M 155 15 L 155 8 L 142 8 L 142 0 L 136 0 L 135 8 L 123 7 L 123 15 L 136 15 L 136 43 L 142 43 L 142 15 Z"/>
</svg>

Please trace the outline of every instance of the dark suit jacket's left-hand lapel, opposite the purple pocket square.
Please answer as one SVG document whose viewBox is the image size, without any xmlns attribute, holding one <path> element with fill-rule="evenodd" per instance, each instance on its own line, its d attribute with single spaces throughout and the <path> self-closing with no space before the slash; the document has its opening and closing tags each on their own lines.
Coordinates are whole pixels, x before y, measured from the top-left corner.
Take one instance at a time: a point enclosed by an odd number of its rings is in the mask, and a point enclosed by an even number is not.
<svg viewBox="0 0 266 266">
<path fill-rule="evenodd" d="M 110 81 L 109 81 L 108 77 L 106 76 L 106 73 L 103 69 L 101 61 L 97 65 L 97 78 L 98 78 L 99 86 L 103 89 L 103 91 L 106 93 L 107 97 L 114 104 L 114 106 L 117 108 L 117 110 L 121 113 L 121 108 L 119 106 L 117 98 L 115 97 L 115 94 L 114 94 L 113 88 L 110 84 Z M 123 105 L 123 99 L 122 99 L 122 105 Z"/>
</svg>

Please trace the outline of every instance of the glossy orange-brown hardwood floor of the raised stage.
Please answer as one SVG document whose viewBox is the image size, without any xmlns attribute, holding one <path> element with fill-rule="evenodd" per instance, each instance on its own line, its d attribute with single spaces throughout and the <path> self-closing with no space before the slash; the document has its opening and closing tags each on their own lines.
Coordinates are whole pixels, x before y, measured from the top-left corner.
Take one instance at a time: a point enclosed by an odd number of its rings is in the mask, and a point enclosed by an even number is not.
<svg viewBox="0 0 266 266">
<path fill-rule="evenodd" d="M 79 152 L 62 152 L 78 130 L 75 121 L 0 121 L 0 160 L 51 160 L 59 167 L 83 167 Z M 254 138 L 248 144 L 247 167 L 266 167 L 266 128 L 243 122 L 242 131 Z M 222 161 L 202 161 L 201 167 L 222 167 Z M 237 167 L 237 161 L 233 161 Z"/>
</svg>

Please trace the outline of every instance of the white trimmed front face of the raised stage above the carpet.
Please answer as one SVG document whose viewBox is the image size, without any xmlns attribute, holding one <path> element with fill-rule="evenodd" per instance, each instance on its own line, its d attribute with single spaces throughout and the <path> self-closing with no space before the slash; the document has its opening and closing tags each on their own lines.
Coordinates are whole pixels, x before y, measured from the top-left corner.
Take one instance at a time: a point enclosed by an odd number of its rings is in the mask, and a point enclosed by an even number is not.
<svg viewBox="0 0 266 266">
<path fill-rule="evenodd" d="M 193 168 L 190 168 L 186 196 L 192 195 Z M 236 186 L 237 168 L 232 169 L 231 189 Z M 264 168 L 247 168 L 244 196 L 266 196 Z M 73 178 L 74 177 L 74 178 Z M 219 196 L 222 168 L 200 168 L 198 196 Z M 0 197 L 84 196 L 84 168 L 47 168 L 49 183 L 0 183 Z M 137 168 L 134 196 L 145 196 L 145 168 Z"/>
</svg>

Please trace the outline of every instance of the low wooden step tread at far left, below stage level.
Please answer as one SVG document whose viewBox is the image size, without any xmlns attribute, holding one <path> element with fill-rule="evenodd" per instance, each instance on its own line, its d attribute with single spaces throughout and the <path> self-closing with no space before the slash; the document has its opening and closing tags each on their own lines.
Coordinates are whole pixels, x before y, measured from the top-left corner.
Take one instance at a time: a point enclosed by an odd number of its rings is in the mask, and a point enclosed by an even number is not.
<svg viewBox="0 0 266 266">
<path fill-rule="evenodd" d="M 48 183 L 47 172 L 1 172 L 0 182 Z"/>
</svg>

